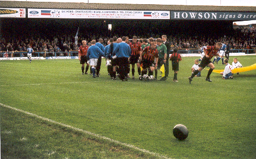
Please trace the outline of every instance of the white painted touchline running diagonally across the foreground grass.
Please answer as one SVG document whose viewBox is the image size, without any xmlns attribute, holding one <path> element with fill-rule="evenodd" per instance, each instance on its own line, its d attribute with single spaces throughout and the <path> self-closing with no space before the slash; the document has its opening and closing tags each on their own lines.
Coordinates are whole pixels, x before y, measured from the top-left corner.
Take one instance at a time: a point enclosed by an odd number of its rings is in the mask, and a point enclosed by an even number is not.
<svg viewBox="0 0 256 159">
<path fill-rule="evenodd" d="M 55 123 L 55 124 L 58 124 L 58 125 L 61 125 L 61 126 L 65 126 L 65 127 L 67 127 L 67 128 L 71 128 L 71 129 L 73 129 L 73 130 L 75 130 L 75 131 L 80 131 L 80 132 L 83 132 L 83 133 L 87 133 L 87 134 L 89 134 L 89 135 L 91 135 L 91 136 L 95 136 L 95 137 L 100 138 L 100 139 L 105 139 L 105 140 L 107 140 L 107 141 L 114 142 L 114 143 L 120 144 L 120 145 L 124 145 L 124 146 L 129 147 L 129 148 L 134 148 L 135 150 L 138 150 L 138 151 L 141 151 L 141 152 L 144 152 L 144 153 L 147 153 L 147 154 L 155 155 L 155 156 L 160 157 L 160 158 L 168 158 L 168 157 L 166 157 L 166 156 L 164 156 L 164 155 L 160 155 L 160 154 L 155 153 L 155 152 L 150 152 L 150 151 L 148 151 L 148 150 L 144 150 L 144 149 L 135 147 L 134 145 L 131 145 L 131 144 L 126 144 L 126 143 L 124 143 L 124 142 L 116 141 L 116 140 L 114 140 L 114 139 L 110 139 L 110 138 L 108 138 L 108 137 L 106 137 L 106 136 L 101 136 L 101 135 L 98 135 L 98 134 L 93 133 L 93 132 L 84 131 L 83 129 L 75 128 L 75 127 L 73 127 L 73 126 L 66 125 L 66 124 L 64 124 L 64 123 L 55 122 L 54 120 L 51 120 L 51 119 L 48 119 L 48 118 L 45 118 L 45 117 L 42 117 L 42 116 L 35 115 L 35 114 L 33 114 L 33 113 L 29 113 L 29 112 L 26 112 L 26 111 L 24 111 L 24 110 L 17 109 L 17 108 L 15 108 L 15 107 L 7 106 L 7 105 L 2 104 L 2 103 L 0 103 L 0 106 L 2 106 L 2 107 L 7 107 L 7 108 L 9 108 L 9 109 L 16 110 L 16 111 L 18 111 L 18 112 L 22 112 L 22 113 L 25 113 L 25 114 L 27 114 L 27 115 L 37 117 L 37 118 L 39 118 L 39 119 L 42 119 L 42 120 L 45 120 L 45 121 L 48 121 L 48 122 L 51 122 L 51 123 Z M 171 159 L 171 158 L 169 158 L 169 159 Z"/>
</svg>

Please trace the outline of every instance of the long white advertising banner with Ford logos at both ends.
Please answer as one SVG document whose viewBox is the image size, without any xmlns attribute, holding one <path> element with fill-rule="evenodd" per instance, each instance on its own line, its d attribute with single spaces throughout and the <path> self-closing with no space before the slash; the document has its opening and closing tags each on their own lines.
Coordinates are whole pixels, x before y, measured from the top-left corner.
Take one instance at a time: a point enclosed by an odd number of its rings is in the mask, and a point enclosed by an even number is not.
<svg viewBox="0 0 256 159">
<path fill-rule="evenodd" d="M 29 18 L 159 19 L 169 20 L 170 11 L 121 11 L 81 9 L 28 9 Z"/>
</svg>

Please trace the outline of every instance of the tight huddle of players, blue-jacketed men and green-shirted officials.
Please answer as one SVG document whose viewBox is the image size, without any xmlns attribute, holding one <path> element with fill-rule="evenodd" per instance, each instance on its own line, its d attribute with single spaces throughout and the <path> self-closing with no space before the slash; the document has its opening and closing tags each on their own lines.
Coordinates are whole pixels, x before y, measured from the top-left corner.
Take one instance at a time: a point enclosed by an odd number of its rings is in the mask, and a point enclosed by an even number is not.
<svg viewBox="0 0 256 159">
<path fill-rule="evenodd" d="M 153 75 L 157 79 L 157 69 L 165 65 L 165 76 L 160 81 L 165 81 L 169 72 L 169 51 L 170 44 L 166 42 L 167 36 L 163 35 L 162 39 L 143 39 L 138 40 L 137 36 L 132 37 L 132 42 L 129 42 L 128 37 L 113 37 L 109 40 L 106 47 L 102 47 L 103 40 L 99 39 L 91 41 L 91 46 L 87 46 L 86 40 L 83 40 L 78 49 L 78 59 L 81 63 L 82 74 L 87 74 L 89 65 L 91 66 L 90 74 L 93 78 L 99 76 L 102 56 L 106 58 L 108 66 L 108 74 L 112 80 L 116 80 L 116 75 L 127 81 L 131 69 L 132 80 L 135 79 L 135 66 L 139 79 L 143 80 L 143 76 L 148 74 Z M 98 48 L 99 47 L 99 48 Z M 168 59 L 167 59 L 168 57 Z M 87 63 L 86 71 L 84 72 L 85 63 Z M 131 65 L 131 68 L 130 68 Z M 142 67 L 142 70 L 141 70 Z"/>
</svg>

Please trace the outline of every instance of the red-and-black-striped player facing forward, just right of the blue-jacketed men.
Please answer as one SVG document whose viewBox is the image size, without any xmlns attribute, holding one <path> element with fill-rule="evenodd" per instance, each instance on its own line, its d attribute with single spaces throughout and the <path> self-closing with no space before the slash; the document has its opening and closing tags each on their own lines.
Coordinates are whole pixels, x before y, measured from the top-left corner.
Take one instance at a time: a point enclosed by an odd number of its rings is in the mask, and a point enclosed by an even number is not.
<svg viewBox="0 0 256 159">
<path fill-rule="evenodd" d="M 141 54 L 141 44 L 140 42 L 137 42 L 137 39 L 137 36 L 133 36 L 132 42 L 129 43 L 129 47 L 131 47 L 131 57 L 129 58 L 129 63 L 132 66 L 132 79 L 134 79 L 135 63 L 137 63 L 138 75 L 141 75 L 140 62 L 138 61 L 138 58 L 140 57 Z"/>
</svg>

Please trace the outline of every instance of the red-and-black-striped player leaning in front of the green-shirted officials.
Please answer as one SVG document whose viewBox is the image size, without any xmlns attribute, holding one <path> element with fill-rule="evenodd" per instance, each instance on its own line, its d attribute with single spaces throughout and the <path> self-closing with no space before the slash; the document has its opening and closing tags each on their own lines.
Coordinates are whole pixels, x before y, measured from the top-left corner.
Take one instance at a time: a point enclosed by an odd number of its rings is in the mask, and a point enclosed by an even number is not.
<svg viewBox="0 0 256 159">
<path fill-rule="evenodd" d="M 147 74 L 147 68 L 150 68 L 150 72 L 148 72 L 148 76 L 153 75 L 154 72 L 154 59 L 158 61 L 158 50 L 156 49 L 156 42 L 152 42 L 151 46 L 147 46 L 144 48 L 143 52 L 140 55 L 140 61 L 143 63 L 143 70 L 141 71 L 141 77 L 144 74 Z M 156 63 L 157 66 L 157 63 Z"/>
</svg>

